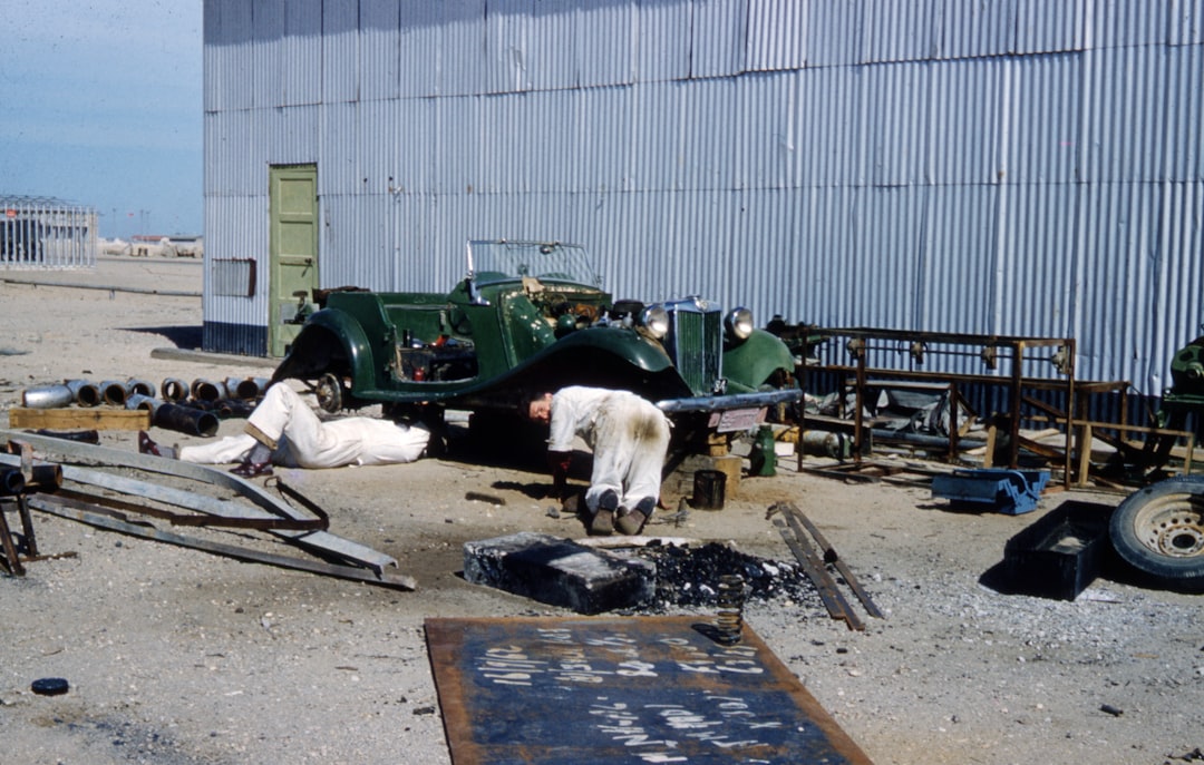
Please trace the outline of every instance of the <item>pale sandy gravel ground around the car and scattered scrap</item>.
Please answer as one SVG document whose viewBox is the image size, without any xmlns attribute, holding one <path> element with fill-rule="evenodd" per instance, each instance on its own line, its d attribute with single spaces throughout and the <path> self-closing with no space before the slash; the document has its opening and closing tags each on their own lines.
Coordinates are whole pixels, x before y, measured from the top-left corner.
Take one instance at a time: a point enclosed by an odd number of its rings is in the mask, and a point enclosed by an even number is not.
<svg viewBox="0 0 1204 765">
<path fill-rule="evenodd" d="M 271 372 L 157 352 L 199 344 L 199 297 L 13 283 L 199 292 L 196 262 L 110 259 L 0 278 L 0 425 L 23 390 L 66 378 Z M 240 427 L 229 420 L 222 432 Z M 102 438 L 135 449 L 132 433 Z M 979 515 L 950 511 L 922 486 L 779 468 L 744 479 L 724 510 L 649 533 L 791 561 L 766 509 L 790 500 L 819 524 L 886 618 L 851 631 L 816 601 L 780 599 L 745 617 L 874 763 L 1204 760 L 1204 597 L 1097 580 L 1068 603 L 980 582 L 1011 535 L 1062 502 L 1120 496 L 1054 492 L 1029 515 Z M 580 523 L 548 515 L 539 473 L 458 458 L 285 478 L 330 512 L 332 532 L 395 556 L 418 589 L 35 514 L 41 551 L 76 556 L 0 576 L 5 763 L 450 763 L 424 619 L 567 613 L 464 581 L 464 542 L 518 530 L 580 538 Z M 67 678 L 70 693 L 31 693 L 42 677 Z"/>
</svg>

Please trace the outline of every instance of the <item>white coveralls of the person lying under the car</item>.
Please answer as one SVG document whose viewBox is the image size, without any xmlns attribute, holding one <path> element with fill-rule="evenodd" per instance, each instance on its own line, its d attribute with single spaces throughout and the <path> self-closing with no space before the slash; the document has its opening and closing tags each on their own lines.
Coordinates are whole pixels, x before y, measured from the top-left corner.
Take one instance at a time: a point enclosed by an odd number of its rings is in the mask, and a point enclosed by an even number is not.
<svg viewBox="0 0 1204 765">
<path fill-rule="evenodd" d="M 431 435 L 420 427 L 374 417 L 323 422 L 296 391 L 281 382 L 267 389 L 246 429 L 212 444 L 184 446 L 179 458 L 202 464 L 240 462 L 260 443 L 272 450 L 272 463 L 289 468 L 393 464 L 418 459 Z"/>
</svg>

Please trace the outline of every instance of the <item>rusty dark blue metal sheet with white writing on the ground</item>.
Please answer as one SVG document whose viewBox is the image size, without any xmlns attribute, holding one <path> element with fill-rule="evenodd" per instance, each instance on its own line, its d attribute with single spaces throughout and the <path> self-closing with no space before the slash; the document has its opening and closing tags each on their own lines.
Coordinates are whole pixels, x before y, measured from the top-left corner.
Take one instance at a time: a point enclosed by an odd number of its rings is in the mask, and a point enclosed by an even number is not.
<svg viewBox="0 0 1204 765">
<path fill-rule="evenodd" d="M 757 635 L 684 617 L 431 618 L 455 765 L 869 759 Z"/>
</svg>

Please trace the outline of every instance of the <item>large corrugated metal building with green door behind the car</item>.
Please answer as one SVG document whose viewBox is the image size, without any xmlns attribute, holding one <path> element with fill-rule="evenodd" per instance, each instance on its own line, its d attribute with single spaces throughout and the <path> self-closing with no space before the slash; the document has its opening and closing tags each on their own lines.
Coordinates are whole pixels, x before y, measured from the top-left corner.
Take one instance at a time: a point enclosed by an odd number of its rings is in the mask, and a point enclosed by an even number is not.
<svg viewBox="0 0 1204 765">
<path fill-rule="evenodd" d="M 205 0 L 205 73 L 209 350 L 492 237 L 1151 395 L 1204 318 L 1204 0 Z"/>
</svg>

